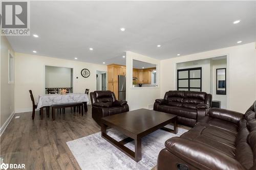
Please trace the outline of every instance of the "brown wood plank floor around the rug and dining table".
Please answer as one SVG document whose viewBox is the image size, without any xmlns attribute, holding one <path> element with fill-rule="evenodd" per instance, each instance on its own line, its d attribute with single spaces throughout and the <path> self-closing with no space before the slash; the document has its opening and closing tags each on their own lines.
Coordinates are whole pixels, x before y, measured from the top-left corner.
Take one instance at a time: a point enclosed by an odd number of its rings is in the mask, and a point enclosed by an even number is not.
<svg viewBox="0 0 256 170">
<path fill-rule="evenodd" d="M 25 163 L 26 169 L 80 169 L 66 142 L 100 131 L 91 110 L 88 106 L 88 112 L 81 116 L 66 108 L 65 113 L 55 114 L 54 121 L 51 115 L 50 118 L 46 116 L 46 111 L 43 120 L 40 120 L 39 111 L 34 120 L 32 112 L 17 113 L 15 116 L 20 118 L 14 116 L 1 136 L 0 154 L 18 153 L 12 160 Z"/>
</svg>

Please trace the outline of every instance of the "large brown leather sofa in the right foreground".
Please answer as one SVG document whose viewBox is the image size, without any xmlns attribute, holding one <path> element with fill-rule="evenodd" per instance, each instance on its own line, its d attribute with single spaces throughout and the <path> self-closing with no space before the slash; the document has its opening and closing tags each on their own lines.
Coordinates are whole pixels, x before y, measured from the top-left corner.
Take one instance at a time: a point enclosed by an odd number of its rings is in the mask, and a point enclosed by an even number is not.
<svg viewBox="0 0 256 170">
<path fill-rule="evenodd" d="M 211 108 L 197 125 L 165 142 L 158 170 L 255 170 L 256 102 L 245 114 Z"/>
</svg>

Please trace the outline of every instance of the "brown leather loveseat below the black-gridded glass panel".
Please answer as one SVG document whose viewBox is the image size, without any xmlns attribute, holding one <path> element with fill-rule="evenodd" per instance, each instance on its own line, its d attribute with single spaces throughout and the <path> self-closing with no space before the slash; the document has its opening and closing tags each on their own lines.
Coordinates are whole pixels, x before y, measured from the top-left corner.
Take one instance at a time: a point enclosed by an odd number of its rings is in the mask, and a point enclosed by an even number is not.
<svg viewBox="0 0 256 170">
<path fill-rule="evenodd" d="M 211 107 L 211 94 L 197 91 L 167 91 L 157 99 L 154 110 L 178 115 L 178 123 L 194 127 Z"/>
</svg>

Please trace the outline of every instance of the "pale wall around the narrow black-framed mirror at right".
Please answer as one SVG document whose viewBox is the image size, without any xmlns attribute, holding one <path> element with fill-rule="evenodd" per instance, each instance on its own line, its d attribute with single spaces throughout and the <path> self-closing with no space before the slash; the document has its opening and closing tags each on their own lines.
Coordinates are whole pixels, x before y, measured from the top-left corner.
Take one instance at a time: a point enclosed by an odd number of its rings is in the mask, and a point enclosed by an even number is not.
<svg viewBox="0 0 256 170">
<path fill-rule="evenodd" d="M 211 61 L 212 65 L 212 100 L 221 101 L 221 108 L 227 108 L 227 95 L 216 94 L 216 69 L 217 68 L 226 68 L 227 60 L 213 60 Z M 226 70 L 227 72 L 227 70 Z"/>
</svg>

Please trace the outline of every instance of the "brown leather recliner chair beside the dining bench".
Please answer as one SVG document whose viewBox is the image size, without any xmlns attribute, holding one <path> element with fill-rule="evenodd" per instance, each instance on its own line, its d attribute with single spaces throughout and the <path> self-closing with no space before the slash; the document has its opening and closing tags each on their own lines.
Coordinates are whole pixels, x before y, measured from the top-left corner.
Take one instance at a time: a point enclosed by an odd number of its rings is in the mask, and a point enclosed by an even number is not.
<svg viewBox="0 0 256 170">
<path fill-rule="evenodd" d="M 101 117 L 129 111 L 126 101 L 116 100 L 112 91 L 94 91 L 90 93 L 92 117 L 101 126 Z"/>
</svg>

